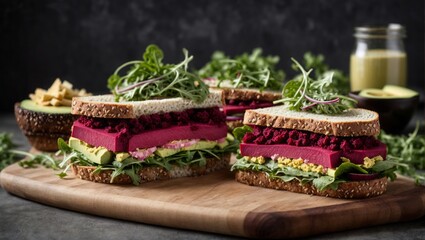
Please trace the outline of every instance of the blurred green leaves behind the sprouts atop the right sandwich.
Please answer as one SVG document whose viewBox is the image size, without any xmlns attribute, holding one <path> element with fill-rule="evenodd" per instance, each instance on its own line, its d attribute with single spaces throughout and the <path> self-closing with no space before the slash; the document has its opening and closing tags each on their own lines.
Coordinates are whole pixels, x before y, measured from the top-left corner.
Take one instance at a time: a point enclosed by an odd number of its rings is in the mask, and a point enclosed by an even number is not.
<svg viewBox="0 0 425 240">
<path fill-rule="evenodd" d="M 297 64 L 293 63 L 292 69 L 299 71 Z M 305 69 L 314 69 L 314 78 L 321 79 L 329 75 L 332 75 L 332 83 L 334 90 L 338 94 L 347 95 L 350 91 L 350 82 L 348 77 L 338 69 L 331 69 L 329 65 L 325 63 L 325 57 L 322 54 L 314 55 L 311 52 L 304 54 L 303 66 Z M 302 78 L 302 74 L 294 78 Z"/>
</svg>

